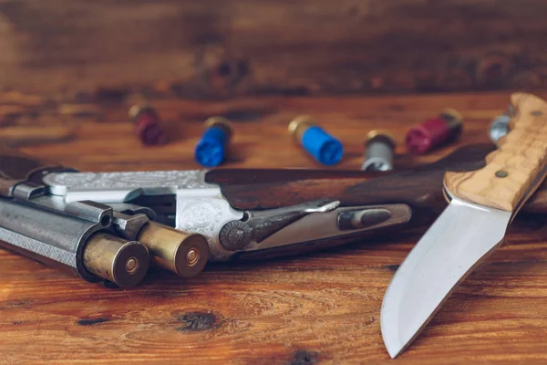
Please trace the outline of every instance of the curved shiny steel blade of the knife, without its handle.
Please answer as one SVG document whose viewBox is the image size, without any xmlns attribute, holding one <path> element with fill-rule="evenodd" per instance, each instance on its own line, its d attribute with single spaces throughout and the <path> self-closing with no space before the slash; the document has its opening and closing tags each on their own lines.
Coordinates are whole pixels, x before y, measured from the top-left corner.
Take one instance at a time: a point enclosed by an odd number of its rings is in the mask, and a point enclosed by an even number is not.
<svg viewBox="0 0 547 365">
<path fill-rule="evenodd" d="M 410 251 L 387 287 L 380 322 L 395 358 L 459 283 L 501 244 L 511 212 L 453 198 Z"/>
</svg>

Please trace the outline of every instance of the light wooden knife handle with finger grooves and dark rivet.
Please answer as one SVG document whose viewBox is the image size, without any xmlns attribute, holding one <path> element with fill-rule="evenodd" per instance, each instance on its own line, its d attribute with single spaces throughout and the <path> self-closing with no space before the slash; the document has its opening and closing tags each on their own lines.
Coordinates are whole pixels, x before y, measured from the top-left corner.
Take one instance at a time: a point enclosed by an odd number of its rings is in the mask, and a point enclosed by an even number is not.
<svg viewBox="0 0 547 365">
<path fill-rule="evenodd" d="M 453 197 L 490 208 L 517 212 L 547 175 L 547 102 L 525 93 L 511 95 L 515 110 L 511 132 L 499 149 L 474 172 L 447 172 L 444 184 Z"/>
</svg>

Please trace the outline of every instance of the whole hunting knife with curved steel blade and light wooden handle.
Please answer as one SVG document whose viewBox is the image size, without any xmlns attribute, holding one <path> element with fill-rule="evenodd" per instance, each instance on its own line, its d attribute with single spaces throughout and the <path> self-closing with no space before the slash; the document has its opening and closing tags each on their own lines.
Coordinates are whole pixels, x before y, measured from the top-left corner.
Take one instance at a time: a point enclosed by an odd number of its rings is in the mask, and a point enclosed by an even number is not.
<svg viewBox="0 0 547 365">
<path fill-rule="evenodd" d="M 387 287 L 380 314 L 387 352 L 397 357 L 444 301 L 503 241 L 506 228 L 547 175 L 547 103 L 511 95 L 511 132 L 474 172 L 447 172 L 450 203 Z"/>
</svg>

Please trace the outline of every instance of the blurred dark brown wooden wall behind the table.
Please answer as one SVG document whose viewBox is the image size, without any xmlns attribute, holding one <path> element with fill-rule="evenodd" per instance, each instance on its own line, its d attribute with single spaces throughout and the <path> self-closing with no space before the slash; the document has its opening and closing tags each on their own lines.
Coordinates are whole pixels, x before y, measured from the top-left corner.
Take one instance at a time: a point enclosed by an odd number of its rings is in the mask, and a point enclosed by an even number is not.
<svg viewBox="0 0 547 365">
<path fill-rule="evenodd" d="M 0 89 L 63 98 L 545 86 L 540 0 L 0 0 Z"/>
</svg>

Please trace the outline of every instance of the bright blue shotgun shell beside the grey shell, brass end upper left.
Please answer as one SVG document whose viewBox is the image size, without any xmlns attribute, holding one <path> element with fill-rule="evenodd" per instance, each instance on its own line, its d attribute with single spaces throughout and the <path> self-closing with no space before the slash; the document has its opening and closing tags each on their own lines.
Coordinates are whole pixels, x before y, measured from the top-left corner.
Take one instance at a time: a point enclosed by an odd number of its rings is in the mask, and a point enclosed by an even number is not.
<svg viewBox="0 0 547 365">
<path fill-rule="evenodd" d="M 334 165 L 342 160 L 344 148 L 340 141 L 315 125 L 315 120 L 307 115 L 296 117 L 289 123 L 289 134 L 294 141 L 304 147 L 317 162 Z"/>
</svg>

